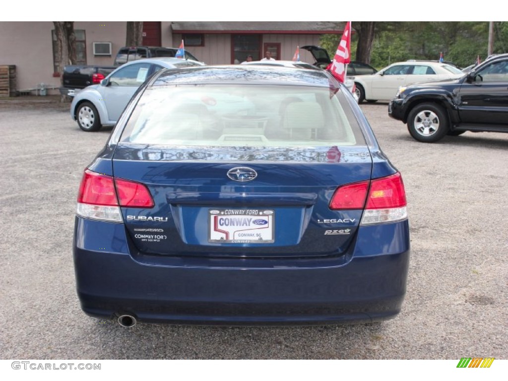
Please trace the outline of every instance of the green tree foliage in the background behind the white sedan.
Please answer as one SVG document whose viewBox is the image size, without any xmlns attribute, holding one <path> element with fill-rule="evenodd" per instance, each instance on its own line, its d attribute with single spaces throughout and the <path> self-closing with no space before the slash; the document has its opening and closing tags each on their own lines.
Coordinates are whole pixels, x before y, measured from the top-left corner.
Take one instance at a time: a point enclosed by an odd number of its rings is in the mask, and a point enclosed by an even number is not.
<svg viewBox="0 0 508 381">
<path fill-rule="evenodd" d="M 353 23 L 353 28 L 355 23 Z M 358 35 L 351 40 L 352 60 L 355 60 Z M 489 39 L 488 21 L 427 21 L 427 22 L 377 22 L 370 65 L 383 69 L 390 63 L 407 59 L 439 59 L 460 67 L 487 57 Z M 330 57 L 340 36 L 325 35 L 321 38 Z M 494 53 L 508 52 L 508 22 L 494 22 Z"/>
</svg>

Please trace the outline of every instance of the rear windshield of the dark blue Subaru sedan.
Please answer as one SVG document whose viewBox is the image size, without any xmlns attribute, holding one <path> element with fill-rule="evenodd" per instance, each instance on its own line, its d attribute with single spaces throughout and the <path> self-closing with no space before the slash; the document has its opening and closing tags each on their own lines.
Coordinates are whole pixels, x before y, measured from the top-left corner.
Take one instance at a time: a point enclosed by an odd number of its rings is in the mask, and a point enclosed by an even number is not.
<svg viewBox="0 0 508 381">
<path fill-rule="evenodd" d="M 178 146 L 365 144 L 340 91 L 264 85 L 153 86 L 139 100 L 121 141 Z"/>
</svg>

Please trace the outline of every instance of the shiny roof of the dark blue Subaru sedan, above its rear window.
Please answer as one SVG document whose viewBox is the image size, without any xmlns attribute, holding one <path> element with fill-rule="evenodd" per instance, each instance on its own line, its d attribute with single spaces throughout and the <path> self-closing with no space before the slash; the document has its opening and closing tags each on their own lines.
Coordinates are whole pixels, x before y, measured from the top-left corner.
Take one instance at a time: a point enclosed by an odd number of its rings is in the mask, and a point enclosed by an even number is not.
<svg viewBox="0 0 508 381">
<path fill-rule="evenodd" d="M 295 75 L 288 75 L 294 71 Z M 152 86 L 168 84 L 256 84 L 338 88 L 338 82 L 324 70 L 269 65 L 217 65 L 183 68 L 178 75 L 161 70 Z"/>
</svg>

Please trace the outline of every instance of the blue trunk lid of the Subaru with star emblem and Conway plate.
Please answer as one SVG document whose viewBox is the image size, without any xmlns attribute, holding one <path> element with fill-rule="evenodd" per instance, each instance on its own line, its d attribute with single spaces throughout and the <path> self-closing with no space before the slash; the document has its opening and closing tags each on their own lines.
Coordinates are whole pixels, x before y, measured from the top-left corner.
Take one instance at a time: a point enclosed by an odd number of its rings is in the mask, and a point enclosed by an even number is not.
<svg viewBox="0 0 508 381">
<path fill-rule="evenodd" d="M 366 147 L 241 149 L 118 146 L 114 176 L 145 184 L 155 203 L 122 208 L 135 247 L 218 257 L 330 256 L 347 249 L 362 210 L 330 210 L 329 203 L 338 186 L 370 179 Z M 255 178 L 237 181 L 249 171 Z"/>
</svg>

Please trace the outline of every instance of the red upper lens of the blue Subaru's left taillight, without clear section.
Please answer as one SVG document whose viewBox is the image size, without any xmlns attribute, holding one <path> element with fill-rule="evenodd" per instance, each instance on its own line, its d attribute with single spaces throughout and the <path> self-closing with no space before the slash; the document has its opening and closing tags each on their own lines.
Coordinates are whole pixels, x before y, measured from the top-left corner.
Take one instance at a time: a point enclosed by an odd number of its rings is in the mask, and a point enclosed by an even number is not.
<svg viewBox="0 0 508 381">
<path fill-rule="evenodd" d="M 81 180 L 78 203 L 106 206 L 119 205 L 131 208 L 151 208 L 154 205 L 150 192 L 144 184 L 113 179 L 111 176 L 89 170 L 85 171 Z"/>
</svg>

